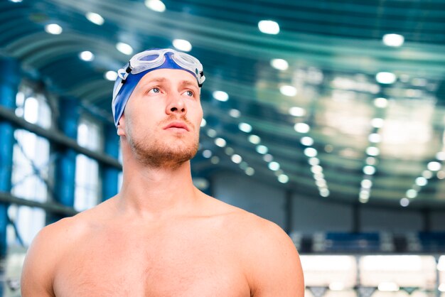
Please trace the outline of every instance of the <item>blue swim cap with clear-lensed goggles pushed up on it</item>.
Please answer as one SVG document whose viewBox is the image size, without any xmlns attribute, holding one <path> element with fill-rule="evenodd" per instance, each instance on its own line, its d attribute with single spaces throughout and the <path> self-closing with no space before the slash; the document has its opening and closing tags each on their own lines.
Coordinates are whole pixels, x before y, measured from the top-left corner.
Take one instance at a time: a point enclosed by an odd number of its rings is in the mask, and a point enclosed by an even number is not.
<svg viewBox="0 0 445 297">
<path fill-rule="evenodd" d="M 118 77 L 114 82 L 112 100 L 112 111 L 116 126 L 139 80 L 146 73 L 163 68 L 186 70 L 196 78 L 198 87 L 202 87 L 205 80 L 203 65 L 197 58 L 187 53 L 178 52 L 171 48 L 145 50 L 137 53 L 124 68 L 117 71 Z"/>
</svg>

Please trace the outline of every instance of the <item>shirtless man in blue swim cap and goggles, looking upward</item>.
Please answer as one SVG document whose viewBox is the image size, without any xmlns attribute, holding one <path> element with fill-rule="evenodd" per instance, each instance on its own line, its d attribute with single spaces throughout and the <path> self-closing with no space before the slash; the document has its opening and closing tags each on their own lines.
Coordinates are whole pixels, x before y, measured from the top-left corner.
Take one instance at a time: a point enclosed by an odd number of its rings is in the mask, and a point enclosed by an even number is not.
<svg viewBox="0 0 445 297">
<path fill-rule="evenodd" d="M 204 79 L 197 59 L 170 49 L 119 70 L 122 190 L 37 235 L 23 297 L 304 296 L 299 255 L 281 228 L 193 186 Z"/>
</svg>

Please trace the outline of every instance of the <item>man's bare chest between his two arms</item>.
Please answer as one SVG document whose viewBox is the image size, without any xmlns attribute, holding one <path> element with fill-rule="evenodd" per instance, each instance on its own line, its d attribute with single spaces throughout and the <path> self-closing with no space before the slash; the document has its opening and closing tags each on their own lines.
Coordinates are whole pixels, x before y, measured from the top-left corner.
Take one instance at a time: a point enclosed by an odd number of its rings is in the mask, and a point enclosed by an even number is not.
<svg viewBox="0 0 445 297">
<path fill-rule="evenodd" d="M 55 296 L 250 296 L 236 254 L 218 237 L 115 235 L 65 255 Z"/>
</svg>

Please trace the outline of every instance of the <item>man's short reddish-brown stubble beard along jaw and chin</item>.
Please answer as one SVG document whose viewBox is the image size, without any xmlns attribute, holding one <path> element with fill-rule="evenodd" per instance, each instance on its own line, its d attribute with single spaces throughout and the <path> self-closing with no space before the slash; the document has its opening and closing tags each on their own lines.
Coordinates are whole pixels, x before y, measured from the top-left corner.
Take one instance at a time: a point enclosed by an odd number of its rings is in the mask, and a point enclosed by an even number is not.
<svg viewBox="0 0 445 297">
<path fill-rule="evenodd" d="M 187 141 L 188 137 L 177 136 L 177 138 L 173 138 L 176 141 L 160 139 L 159 136 L 136 139 L 132 129 L 127 130 L 127 139 L 134 156 L 144 166 L 152 168 L 176 169 L 190 161 L 198 152 L 199 137 L 193 141 Z"/>
</svg>

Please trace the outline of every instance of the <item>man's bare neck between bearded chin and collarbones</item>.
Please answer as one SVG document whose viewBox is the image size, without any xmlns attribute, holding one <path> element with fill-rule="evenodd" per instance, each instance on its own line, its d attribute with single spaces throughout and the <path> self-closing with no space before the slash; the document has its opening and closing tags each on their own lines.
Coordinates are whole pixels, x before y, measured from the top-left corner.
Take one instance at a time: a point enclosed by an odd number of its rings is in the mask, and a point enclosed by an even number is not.
<svg viewBox="0 0 445 297">
<path fill-rule="evenodd" d="M 179 166 L 149 167 L 124 159 L 119 209 L 132 217 L 159 219 L 193 210 L 198 190 L 191 178 L 190 161 Z"/>
</svg>

